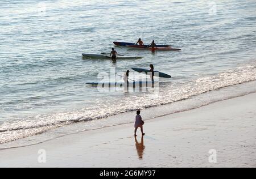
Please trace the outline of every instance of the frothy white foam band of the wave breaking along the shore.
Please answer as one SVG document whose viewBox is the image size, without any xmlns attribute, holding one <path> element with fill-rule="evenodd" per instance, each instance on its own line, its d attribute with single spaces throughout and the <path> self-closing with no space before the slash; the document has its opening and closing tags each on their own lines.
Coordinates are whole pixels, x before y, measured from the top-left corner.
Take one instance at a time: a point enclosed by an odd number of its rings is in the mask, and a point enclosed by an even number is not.
<svg viewBox="0 0 256 179">
<path fill-rule="evenodd" d="M 189 99 L 202 93 L 250 82 L 252 80 L 256 80 L 256 66 L 254 64 L 242 65 L 236 69 L 215 76 L 198 78 L 179 87 L 175 87 L 174 85 L 164 87 L 159 92 L 157 98 L 152 96 L 151 93 L 145 93 L 141 96 L 133 96 L 132 98 L 127 98 L 127 100 L 117 101 L 116 103 L 112 103 L 112 101 L 102 103 L 101 100 L 98 100 L 97 105 L 93 107 L 74 110 L 68 113 L 39 115 L 15 120 L 13 122 L 4 122 L 0 126 L 0 143 L 44 133 L 56 127 L 70 125 L 76 122 L 98 120 L 137 109 L 174 103 L 175 101 Z M 115 125 L 124 121 L 125 120 L 115 121 L 109 124 L 104 121 L 103 126 Z M 87 129 L 95 129 L 102 127 L 102 125 L 94 126 L 92 122 L 88 122 L 86 123 L 86 127 Z"/>
</svg>

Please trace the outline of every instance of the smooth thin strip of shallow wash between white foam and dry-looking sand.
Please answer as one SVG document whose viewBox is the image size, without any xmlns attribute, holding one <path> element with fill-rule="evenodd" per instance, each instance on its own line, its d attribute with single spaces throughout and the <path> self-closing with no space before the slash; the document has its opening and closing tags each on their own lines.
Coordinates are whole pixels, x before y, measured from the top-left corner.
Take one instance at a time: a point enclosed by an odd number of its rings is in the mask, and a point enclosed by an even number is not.
<svg viewBox="0 0 256 179">
<path fill-rule="evenodd" d="M 246 96 L 250 93 L 256 92 L 254 90 L 255 84 L 256 84 L 256 80 L 253 80 L 251 82 L 246 82 L 246 83 L 236 84 L 234 86 L 224 87 L 224 88 L 221 88 L 220 90 L 214 90 L 214 91 L 202 93 L 200 95 L 193 96 L 189 99 L 176 101 L 174 103 L 163 104 L 163 105 L 159 105 L 159 106 L 145 108 L 145 109 L 143 109 L 143 113 L 144 113 L 143 118 L 144 119 L 146 118 L 146 121 L 154 120 L 155 118 L 158 118 L 158 117 L 164 117 L 164 116 L 168 116 L 170 114 L 175 114 L 175 113 L 187 112 L 189 110 L 201 108 L 202 106 L 214 104 L 219 101 L 224 101 L 224 100 L 229 100 L 229 99 L 233 99 L 236 97 Z M 227 93 L 227 92 L 229 92 L 229 93 Z M 212 98 L 212 96 L 218 96 L 218 97 Z M 205 101 L 197 101 L 198 99 L 202 99 L 202 98 L 203 99 L 209 98 L 209 99 L 207 99 Z M 181 105 L 184 107 L 184 104 L 186 104 L 186 103 L 189 103 L 189 104 L 195 103 L 195 104 L 191 105 L 191 106 L 187 106 L 186 108 L 170 110 L 170 108 L 173 108 L 174 106 L 178 106 L 178 105 Z M 160 114 L 160 115 L 155 114 L 155 112 L 157 112 L 158 110 L 161 110 L 163 112 L 163 114 Z M 102 120 L 103 123 L 106 123 L 106 122 L 109 122 L 108 120 L 116 121 L 117 118 L 118 119 L 119 118 L 134 118 L 134 111 L 121 113 L 121 114 L 115 114 L 114 116 L 110 116 L 108 118 L 102 118 L 100 120 L 93 120 L 93 122 L 100 123 Z M 118 120 L 118 121 L 120 121 L 120 120 Z M 40 134 L 31 135 L 29 137 L 20 138 L 20 139 L 13 140 L 10 142 L 2 143 L 2 144 L 0 144 L 0 151 L 11 149 L 11 148 L 32 146 L 32 145 L 40 144 L 43 142 L 47 142 L 49 140 L 54 140 L 54 139 L 57 139 L 60 137 L 64 137 L 66 135 L 79 134 L 84 131 L 99 130 L 99 129 L 104 129 L 106 127 L 125 125 L 125 124 L 129 124 L 129 123 L 133 123 L 133 120 L 125 121 L 125 122 L 120 121 L 121 123 L 109 123 L 109 125 L 107 124 L 107 126 L 101 126 L 101 127 L 92 128 L 92 129 L 85 129 L 85 130 L 82 129 L 81 126 L 86 126 L 86 123 L 88 123 L 88 122 L 91 123 L 91 121 L 81 121 L 81 122 L 77 122 L 77 123 L 70 123 L 70 124 L 64 125 L 64 126 L 53 127 L 53 129 L 49 129 Z M 67 129 L 67 130 L 65 130 L 65 129 Z M 58 134 L 52 138 L 46 137 L 49 133 L 59 133 L 59 131 L 61 131 L 61 130 L 63 131 L 63 134 Z M 72 131 L 72 133 L 70 131 Z M 43 135 L 43 138 L 39 139 L 39 138 L 41 138 L 42 135 Z M 46 135 L 46 136 L 44 136 L 44 135 Z M 37 140 L 37 139 L 39 139 L 39 140 Z M 31 142 L 31 141 L 34 141 L 34 142 Z M 2 146 L 3 146 L 3 148 L 2 148 Z"/>
</svg>

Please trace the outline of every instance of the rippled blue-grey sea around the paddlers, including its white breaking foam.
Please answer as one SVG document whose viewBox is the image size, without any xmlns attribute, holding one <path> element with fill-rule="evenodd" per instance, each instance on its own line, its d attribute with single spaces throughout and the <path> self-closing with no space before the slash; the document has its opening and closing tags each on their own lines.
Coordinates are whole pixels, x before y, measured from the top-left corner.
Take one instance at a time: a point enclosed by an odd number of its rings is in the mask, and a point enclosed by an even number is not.
<svg viewBox="0 0 256 179">
<path fill-rule="evenodd" d="M 76 125 L 75 130 L 66 128 L 72 133 L 117 125 L 129 120 L 105 118 L 163 104 L 176 109 L 181 100 L 187 109 L 192 97 L 237 84 L 241 93 L 256 91 L 254 85 L 243 86 L 256 80 L 255 1 L 0 1 L 0 10 L 0 143 L 56 127 Z M 136 42 L 139 37 L 145 44 L 155 40 L 181 51 L 115 46 L 119 54 L 143 59 L 112 62 L 81 56 L 109 53 L 113 41 Z M 151 63 L 172 75 L 159 79 L 157 93 L 100 92 L 86 85 L 113 70 L 121 75 L 130 70 L 130 78 L 137 80 L 131 67 Z M 200 103 L 207 99 L 203 95 Z"/>
</svg>

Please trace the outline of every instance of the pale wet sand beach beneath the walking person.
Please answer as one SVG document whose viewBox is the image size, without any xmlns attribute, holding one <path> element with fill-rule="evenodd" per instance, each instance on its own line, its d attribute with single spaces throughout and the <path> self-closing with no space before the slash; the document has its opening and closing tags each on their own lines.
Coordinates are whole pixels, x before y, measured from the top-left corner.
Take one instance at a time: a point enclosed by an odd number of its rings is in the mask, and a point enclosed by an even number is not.
<svg viewBox="0 0 256 179">
<path fill-rule="evenodd" d="M 129 123 L 1 150 L 0 167 L 256 167 L 255 106 L 251 93 L 154 118 L 143 140 Z"/>
</svg>

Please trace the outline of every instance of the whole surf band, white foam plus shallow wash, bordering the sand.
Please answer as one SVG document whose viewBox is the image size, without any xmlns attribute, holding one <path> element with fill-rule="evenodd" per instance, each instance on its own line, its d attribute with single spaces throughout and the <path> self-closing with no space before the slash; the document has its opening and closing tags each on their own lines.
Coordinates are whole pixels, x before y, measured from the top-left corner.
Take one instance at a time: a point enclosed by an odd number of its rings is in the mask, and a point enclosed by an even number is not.
<svg viewBox="0 0 256 179">
<path fill-rule="evenodd" d="M 236 92 L 237 94 L 234 94 L 233 91 L 230 91 L 233 93 L 233 95 L 230 95 L 229 93 L 225 93 L 224 95 L 220 93 L 222 96 L 213 96 L 217 97 L 215 101 L 226 99 L 229 96 L 240 96 L 241 93 L 247 93 L 247 92 L 255 92 L 255 74 L 254 74 L 254 65 L 241 65 L 240 67 L 236 67 L 236 69 L 228 70 L 223 73 L 218 74 L 217 76 L 204 76 L 201 78 L 197 78 L 197 80 L 192 80 L 188 84 L 181 85 L 181 88 L 170 88 L 171 86 L 167 86 L 166 88 L 163 88 L 163 91 L 159 93 L 147 93 L 147 94 L 141 94 L 138 95 L 127 95 L 129 96 L 128 99 L 130 100 L 117 100 L 115 97 L 113 101 L 116 103 L 110 103 L 112 101 L 111 98 L 107 97 L 109 100 L 107 100 L 108 104 L 102 103 L 102 101 L 98 101 L 93 106 L 86 106 L 86 103 L 84 103 L 81 108 L 72 108 L 69 109 L 70 106 L 72 106 L 72 101 L 69 103 L 68 110 L 65 112 L 58 112 L 55 111 L 53 113 L 46 113 L 46 114 L 40 114 L 35 116 L 35 114 L 31 114 L 28 116 L 22 116 L 21 118 L 15 118 L 15 120 L 7 119 L 1 121 L 1 137 L 0 137 L 0 143 L 8 143 L 11 141 L 23 139 L 26 137 L 31 137 L 33 135 L 38 135 L 42 133 L 51 133 L 52 130 L 55 131 L 56 128 L 63 128 L 63 126 L 67 126 L 68 124 L 76 123 L 82 123 L 82 122 L 88 122 L 90 125 L 86 127 L 80 127 L 77 126 L 77 129 L 72 130 L 73 131 L 84 131 L 84 130 L 90 130 L 90 129 L 100 129 L 104 126 L 112 126 L 117 125 L 119 123 L 129 123 L 133 120 L 125 120 L 125 121 L 113 121 L 112 118 L 117 118 L 115 115 L 123 114 L 124 116 L 127 115 L 127 113 L 130 113 L 130 111 L 137 110 L 137 109 L 143 109 L 146 111 L 150 111 L 151 109 L 154 110 L 155 114 L 152 114 L 151 112 L 148 112 L 148 116 L 146 118 L 154 118 L 157 116 L 162 116 L 161 112 L 162 109 L 166 108 L 163 105 L 170 105 L 173 109 L 164 109 L 165 114 L 170 114 L 174 112 L 180 112 L 187 109 L 193 109 L 197 106 L 201 106 L 201 104 L 208 104 L 212 100 L 212 97 L 210 97 L 209 94 L 217 94 L 218 92 L 214 91 L 226 91 L 226 88 L 232 89 L 233 86 L 240 86 L 240 89 Z M 250 74 L 249 70 L 253 70 L 253 73 Z M 230 76 L 232 75 L 232 80 L 230 80 Z M 249 84 L 251 86 L 251 83 L 255 83 L 254 87 L 248 90 L 246 86 Z M 242 87 L 241 87 L 242 85 Z M 245 87 L 243 87 L 245 86 Z M 183 89 L 184 87 L 184 89 Z M 165 89 L 165 90 L 164 90 Z M 234 87 L 235 90 L 236 87 Z M 100 93 L 98 93 L 100 94 Z M 205 95 L 206 94 L 206 95 Z M 102 95 L 102 94 L 101 94 Z M 69 95 L 68 95 L 69 96 Z M 118 95 L 117 95 L 118 96 Z M 123 96 L 123 95 L 122 95 Z M 167 97 L 168 96 L 168 97 Z M 206 96 L 206 99 L 199 99 L 200 97 L 197 96 Z M 197 105 L 194 105 L 192 102 L 191 104 L 183 104 L 183 108 L 179 108 L 179 106 L 175 106 L 175 104 L 179 105 L 182 104 L 180 101 L 192 101 L 191 99 L 199 99 L 200 101 L 196 101 Z M 208 100 L 209 98 L 209 100 Z M 85 97 L 86 99 L 86 97 Z M 76 100 L 75 100 L 76 101 Z M 112 101 L 112 102 L 113 102 Z M 132 103 L 131 103 L 132 101 Z M 172 105 L 174 104 L 174 105 Z M 158 107 L 160 106 L 160 107 Z M 88 108 L 87 108 L 88 107 Z M 156 109 L 160 110 L 156 110 Z M 160 112 L 161 111 L 161 112 Z M 32 112 L 32 111 L 30 111 Z M 36 112 L 36 110 L 33 112 Z M 15 111 L 15 113 L 18 113 Z M 105 118 L 108 118 L 108 122 L 105 121 Z M 133 118 L 130 116 L 130 118 Z M 100 122 L 97 122 L 98 119 L 101 119 Z M 94 121 L 94 122 L 92 122 Z M 102 121 L 105 121 L 104 125 L 102 125 Z M 92 125 L 91 125 L 92 124 Z M 70 127 L 69 127 L 70 128 Z M 57 133 L 57 131 L 56 131 Z M 69 131 L 65 131 L 63 134 L 70 133 Z M 35 139 L 34 139 L 35 140 Z M 45 140 L 45 139 L 44 139 Z M 42 141 L 40 139 L 40 141 Z M 30 142 L 31 143 L 31 142 Z M 22 144 L 23 146 L 25 144 Z M 5 147 L 6 148 L 6 147 Z"/>
</svg>

